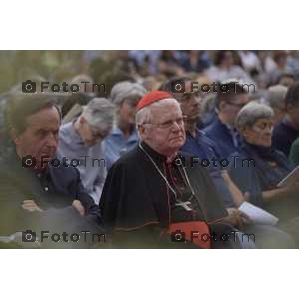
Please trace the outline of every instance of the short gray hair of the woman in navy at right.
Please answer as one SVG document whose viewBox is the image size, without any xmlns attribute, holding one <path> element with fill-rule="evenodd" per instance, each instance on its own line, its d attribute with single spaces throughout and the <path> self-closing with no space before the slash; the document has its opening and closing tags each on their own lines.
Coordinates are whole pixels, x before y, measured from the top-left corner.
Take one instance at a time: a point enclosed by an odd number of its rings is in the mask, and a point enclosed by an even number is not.
<svg viewBox="0 0 299 299">
<path fill-rule="evenodd" d="M 236 118 L 238 130 L 252 127 L 258 119 L 272 118 L 274 111 L 271 107 L 257 102 L 250 102 L 245 105 Z"/>
</svg>

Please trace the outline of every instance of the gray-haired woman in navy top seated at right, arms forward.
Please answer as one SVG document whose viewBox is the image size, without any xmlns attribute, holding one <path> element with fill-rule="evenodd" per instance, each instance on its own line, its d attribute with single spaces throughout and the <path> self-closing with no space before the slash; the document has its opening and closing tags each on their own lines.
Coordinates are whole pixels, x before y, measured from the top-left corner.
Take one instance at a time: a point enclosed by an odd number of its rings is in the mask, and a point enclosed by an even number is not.
<svg viewBox="0 0 299 299">
<path fill-rule="evenodd" d="M 283 152 L 272 146 L 274 111 L 251 102 L 241 109 L 236 127 L 243 137 L 238 152 L 232 154 L 229 174 L 250 201 L 280 218 L 280 223 L 299 215 L 299 181 L 278 187 L 293 166 Z M 235 161 L 235 162 L 234 162 Z"/>
</svg>

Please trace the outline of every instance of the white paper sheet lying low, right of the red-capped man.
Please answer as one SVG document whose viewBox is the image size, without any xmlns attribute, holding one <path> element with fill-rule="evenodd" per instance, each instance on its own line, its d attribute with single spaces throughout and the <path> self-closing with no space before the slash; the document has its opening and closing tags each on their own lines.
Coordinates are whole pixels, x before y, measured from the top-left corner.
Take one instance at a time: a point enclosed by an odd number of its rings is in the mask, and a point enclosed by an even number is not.
<svg viewBox="0 0 299 299">
<path fill-rule="evenodd" d="M 276 225 L 279 221 L 279 218 L 247 201 L 240 205 L 239 210 L 256 224 Z"/>
</svg>

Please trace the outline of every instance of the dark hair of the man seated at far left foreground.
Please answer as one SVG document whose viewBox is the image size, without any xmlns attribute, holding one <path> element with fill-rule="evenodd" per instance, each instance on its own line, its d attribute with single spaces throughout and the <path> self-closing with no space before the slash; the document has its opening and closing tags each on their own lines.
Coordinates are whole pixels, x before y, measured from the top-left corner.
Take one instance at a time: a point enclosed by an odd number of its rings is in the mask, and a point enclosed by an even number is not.
<svg viewBox="0 0 299 299">
<path fill-rule="evenodd" d="M 56 105 L 55 100 L 48 96 L 27 94 L 8 99 L 4 112 L 6 134 L 12 128 L 16 130 L 17 135 L 22 134 L 26 130 L 26 120 L 29 116 L 52 107 L 57 109 L 61 120 L 59 107 Z"/>
</svg>

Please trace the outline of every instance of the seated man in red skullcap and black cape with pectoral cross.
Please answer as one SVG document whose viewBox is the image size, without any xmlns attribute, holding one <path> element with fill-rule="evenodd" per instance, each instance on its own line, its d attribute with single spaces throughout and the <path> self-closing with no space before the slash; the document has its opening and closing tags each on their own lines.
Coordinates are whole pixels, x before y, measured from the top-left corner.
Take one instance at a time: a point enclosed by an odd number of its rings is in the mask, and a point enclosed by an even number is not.
<svg viewBox="0 0 299 299">
<path fill-rule="evenodd" d="M 100 200 L 114 246 L 239 248 L 209 174 L 178 155 L 185 143 L 178 102 L 150 92 L 138 103 L 136 124 L 141 143 L 112 166 Z M 231 238 L 223 242 L 221 234 Z"/>
</svg>

